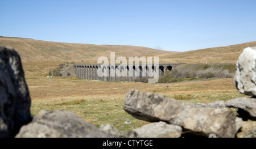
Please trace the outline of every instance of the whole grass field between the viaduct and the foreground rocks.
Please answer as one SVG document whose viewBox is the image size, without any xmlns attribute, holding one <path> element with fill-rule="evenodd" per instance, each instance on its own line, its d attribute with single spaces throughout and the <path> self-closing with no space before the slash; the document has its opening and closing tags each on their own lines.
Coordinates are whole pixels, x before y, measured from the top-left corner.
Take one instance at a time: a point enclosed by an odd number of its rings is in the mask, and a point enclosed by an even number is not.
<svg viewBox="0 0 256 149">
<path fill-rule="evenodd" d="M 162 93 L 184 102 L 211 103 L 243 96 L 237 92 L 234 79 L 217 79 L 203 82 L 150 84 L 140 82 L 99 82 L 75 77 L 53 77 L 49 82 L 49 69 L 60 62 L 23 62 L 28 89 L 32 99 L 31 114 L 40 110 L 71 110 L 93 125 L 111 124 L 119 130 L 133 130 L 148 124 L 126 113 L 123 97 L 132 89 Z M 98 121 L 93 121 L 99 118 Z M 132 124 L 123 124 L 129 118 Z"/>
</svg>

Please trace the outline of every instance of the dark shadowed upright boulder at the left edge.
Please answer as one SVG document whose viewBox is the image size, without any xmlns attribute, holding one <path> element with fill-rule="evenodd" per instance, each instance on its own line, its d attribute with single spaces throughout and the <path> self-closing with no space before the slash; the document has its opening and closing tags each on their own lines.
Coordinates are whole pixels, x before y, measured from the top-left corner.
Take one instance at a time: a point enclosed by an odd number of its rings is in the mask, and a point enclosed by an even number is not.
<svg viewBox="0 0 256 149">
<path fill-rule="evenodd" d="M 31 121 L 31 99 L 18 53 L 0 46 L 0 137 L 14 137 Z"/>
</svg>

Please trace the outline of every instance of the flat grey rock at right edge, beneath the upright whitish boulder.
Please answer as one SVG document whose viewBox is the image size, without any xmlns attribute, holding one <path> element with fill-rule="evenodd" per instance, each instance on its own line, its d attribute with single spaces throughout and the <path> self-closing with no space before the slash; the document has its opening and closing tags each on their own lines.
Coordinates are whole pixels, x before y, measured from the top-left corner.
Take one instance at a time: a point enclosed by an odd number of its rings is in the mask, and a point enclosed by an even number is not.
<svg viewBox="0 0 256 149">
<path fill-rule="evenodd" d="M 254 98 L 238 97 L 226 101 L 225 106 L 238 108 L 237 113 L 243 120 L 256 119 L 256 99 Z"/>
</svg>

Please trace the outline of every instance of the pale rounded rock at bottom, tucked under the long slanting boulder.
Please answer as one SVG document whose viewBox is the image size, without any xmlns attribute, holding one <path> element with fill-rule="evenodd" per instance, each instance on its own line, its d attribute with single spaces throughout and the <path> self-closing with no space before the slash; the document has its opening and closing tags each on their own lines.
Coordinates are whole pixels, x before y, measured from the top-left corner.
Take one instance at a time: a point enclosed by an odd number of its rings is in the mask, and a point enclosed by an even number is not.
<svg viewBox="0 0 256 149">
<path fill-rule="evenodd" d="M 134 129 L 138 137 L 142 138 L 179 138 L 182 128 L 166 122 L 152 122 L 137 129 Z"/>
</svg>

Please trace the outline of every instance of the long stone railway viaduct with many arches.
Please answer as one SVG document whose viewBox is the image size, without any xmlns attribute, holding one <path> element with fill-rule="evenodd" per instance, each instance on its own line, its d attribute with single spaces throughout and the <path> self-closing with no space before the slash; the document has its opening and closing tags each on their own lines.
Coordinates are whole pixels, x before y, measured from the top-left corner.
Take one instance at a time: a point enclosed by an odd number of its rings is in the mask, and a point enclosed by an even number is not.
<svg viewBox="0 0 256 149">
<path fill-rule="evenodd" d="M 175 67 L 182 65 L 184 63 L 162 63 L 158 65 L 158 72 L 159 72 L 159 78 L 163 75 L 166 75 L 168 71 L 171 71 Z M 101 64 L 74 64 L 73 65 L 75 69 L 76 76 L 80 79 L 92 79 L 92 80 L 102 80 L 105 82 L 117 82 L 117 81 L 134 81 L 135 79 L 141 79 L 141 78 L 153 78 L 148 75 L 150 73 L 150 69 L 152 72 L 156 71 L 156 66 L 152 64 L 151 66 L 148 65 L 133 65 L 133 67 L 129 67 L 129 65 L 126 65 L 125 67 L 119 66 L 119 65 L 101 65 Z M 133 71 L 131 71 L 133 69 Z M 108 76 L 100 76 L 98 75 L 98 71 L 100 73 L 104 73 L 104 71 L 109 73 Z M 111 71 L 113 70 L 113 71 Z M 127 71 L 127 76 L 117 76 L 110 74 L 111 72 L 115 71 L 119 72 L 125 72 Z M 133 72 L 133 74 L 129 74 Z M 143 75 L 143 74 L 146 74 Z M 131 76 L 132 75 L 132 76 Z"/>
</svg>

